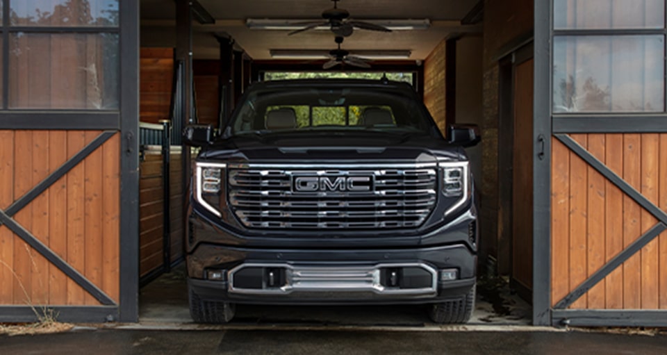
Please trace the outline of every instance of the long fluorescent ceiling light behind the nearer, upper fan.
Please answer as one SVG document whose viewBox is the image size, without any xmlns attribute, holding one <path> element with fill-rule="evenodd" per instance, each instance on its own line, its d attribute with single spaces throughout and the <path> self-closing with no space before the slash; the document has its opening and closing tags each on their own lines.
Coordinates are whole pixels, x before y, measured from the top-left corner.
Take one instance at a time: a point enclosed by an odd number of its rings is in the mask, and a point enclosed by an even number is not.
<svg viewBox="0 0 667 355">
<path fill-rule="evenodd" d="M 246 19 L 245 26 L 251 30 L 295 31 L 303 28 L 304 22 L 318 22 L 320 19 Z M 384 26 L 391 31 L 427 30 L 431 27 L 429 19 L 370 19 L 363 20 L 371 24 Z M 316 30 L 331 30 L 331 26 L 318 26 Z"/>
</svg>

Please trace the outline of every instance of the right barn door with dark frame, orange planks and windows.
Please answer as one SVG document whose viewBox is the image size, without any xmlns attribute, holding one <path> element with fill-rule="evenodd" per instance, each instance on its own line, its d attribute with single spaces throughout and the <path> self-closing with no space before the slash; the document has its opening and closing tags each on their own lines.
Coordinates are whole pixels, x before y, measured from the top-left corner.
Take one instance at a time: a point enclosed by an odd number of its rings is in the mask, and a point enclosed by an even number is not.
<svg viewBox="0 0 667 355">
<path fill-rule="evenodd" d="M 607 5 L 535 1 L 535 324 L 667 325 L 666 6 Z"/>
</svg>

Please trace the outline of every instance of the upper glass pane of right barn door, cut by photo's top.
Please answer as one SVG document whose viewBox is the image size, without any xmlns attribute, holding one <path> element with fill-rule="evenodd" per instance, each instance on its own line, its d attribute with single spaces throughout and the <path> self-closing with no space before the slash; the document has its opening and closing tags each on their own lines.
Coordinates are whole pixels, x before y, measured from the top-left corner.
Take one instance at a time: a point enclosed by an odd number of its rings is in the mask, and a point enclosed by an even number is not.
<svg viewBox="0 0 667 355">
<path fill-rule="evenodd" d="M 554 0 L 554 28 L 663 28 L 665 0 Z"/>
</svg>

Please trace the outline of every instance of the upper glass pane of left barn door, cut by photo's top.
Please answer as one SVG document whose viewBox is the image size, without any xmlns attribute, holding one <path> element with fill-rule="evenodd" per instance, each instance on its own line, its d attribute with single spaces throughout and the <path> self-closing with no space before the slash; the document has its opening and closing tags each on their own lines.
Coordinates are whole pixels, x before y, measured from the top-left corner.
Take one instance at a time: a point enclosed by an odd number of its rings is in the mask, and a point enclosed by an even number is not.
<svg viewBox="0 0 667 355">
<path fill-rule="evenodd" d="M 11 0 L 12 26 L 118 26 L 118 0 Z"/>
</svg>

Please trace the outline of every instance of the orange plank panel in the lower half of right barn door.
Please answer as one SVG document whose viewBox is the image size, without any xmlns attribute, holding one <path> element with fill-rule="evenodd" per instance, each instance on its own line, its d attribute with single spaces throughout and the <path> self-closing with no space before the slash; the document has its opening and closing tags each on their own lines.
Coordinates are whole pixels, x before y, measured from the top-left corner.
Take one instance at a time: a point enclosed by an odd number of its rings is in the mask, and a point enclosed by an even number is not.
<svg viewBox="0 0 667 355">
<path fill-rule="evenodd" d="M 595 158 L 667 210 L 667 134 L 573 134 Z M 557 304 L 657 220 L 552 140 L 552 302 Z M 667 232 L 570 308 L 667 309 Z"/>
</svg>

